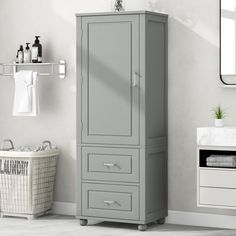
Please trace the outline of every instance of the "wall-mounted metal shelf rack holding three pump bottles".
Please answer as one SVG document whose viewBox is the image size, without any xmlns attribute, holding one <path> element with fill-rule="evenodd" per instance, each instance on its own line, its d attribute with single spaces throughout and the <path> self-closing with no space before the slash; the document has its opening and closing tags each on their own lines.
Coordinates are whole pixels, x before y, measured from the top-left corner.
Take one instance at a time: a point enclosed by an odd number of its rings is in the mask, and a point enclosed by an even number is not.
<svg viewBox="0 0 236 236">
<path fill-rule="evenodd" d="M 66 76 L 66 62 L 58 63 L 0 63 L 0 76 L 14 76 L 18 70 L 34 70 L 39 76 L 55 76 L 64 79 Z"/>
</svg>

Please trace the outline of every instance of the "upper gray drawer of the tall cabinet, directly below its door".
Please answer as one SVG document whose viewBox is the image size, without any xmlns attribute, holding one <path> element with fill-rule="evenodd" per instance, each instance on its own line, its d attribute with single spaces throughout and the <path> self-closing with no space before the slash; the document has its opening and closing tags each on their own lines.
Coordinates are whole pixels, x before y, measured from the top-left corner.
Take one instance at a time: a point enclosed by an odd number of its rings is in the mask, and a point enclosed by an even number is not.
<svg viewBox="0 0 236 236">
<path fill-rule="evenodd" d="M 82 178 L 87 180 L 138 182 L 139 150 L 83 147 Z"/>
</svg>

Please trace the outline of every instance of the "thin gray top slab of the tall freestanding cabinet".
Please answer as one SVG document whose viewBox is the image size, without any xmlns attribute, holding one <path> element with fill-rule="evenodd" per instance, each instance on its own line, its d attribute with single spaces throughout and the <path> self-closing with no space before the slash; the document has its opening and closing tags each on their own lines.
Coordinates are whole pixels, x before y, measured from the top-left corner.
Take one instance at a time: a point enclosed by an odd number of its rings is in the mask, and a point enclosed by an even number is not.
<svg viewBox="0 0 236 236">
<path fill-rule="evenodd" d="M 152 12 L 152 11 L 120 11 L 120 12 L 94 12 L 94 13 L 77 13 L 75 16 L 109 16 L 109 15 L 137 15 L 149 14 L 162 17 L 168 17 L 165 13 Z"/>
</svg>

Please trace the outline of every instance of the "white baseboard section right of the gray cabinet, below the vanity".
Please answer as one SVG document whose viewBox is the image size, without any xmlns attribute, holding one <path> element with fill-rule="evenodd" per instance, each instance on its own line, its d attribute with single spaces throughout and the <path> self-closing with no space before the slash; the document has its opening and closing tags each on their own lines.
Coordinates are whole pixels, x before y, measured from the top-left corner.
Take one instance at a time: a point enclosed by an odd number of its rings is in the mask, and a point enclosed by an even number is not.
<svg viewBox="0 0 236 236">
<path fill-rule="evenodd" d="M 236 229 L 235 222 L 236 216 L 171 210 L 168 211 L 168 217 L 166 218 L 166 223 L 168 224 L 204 226 L 226 229 Z"/>
</svg>

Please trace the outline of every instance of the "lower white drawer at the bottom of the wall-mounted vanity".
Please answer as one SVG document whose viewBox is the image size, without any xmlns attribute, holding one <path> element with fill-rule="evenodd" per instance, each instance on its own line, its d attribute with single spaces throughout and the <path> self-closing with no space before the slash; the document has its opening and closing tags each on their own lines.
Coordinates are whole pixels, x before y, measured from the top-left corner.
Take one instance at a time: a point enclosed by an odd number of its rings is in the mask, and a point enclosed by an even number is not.
<svg viewBox="0 0 236 236">
<path fill-rule="evenodd" d="M 201 187 L 200 204 L 236 207 L 236 189 Z"/>
</svg>

